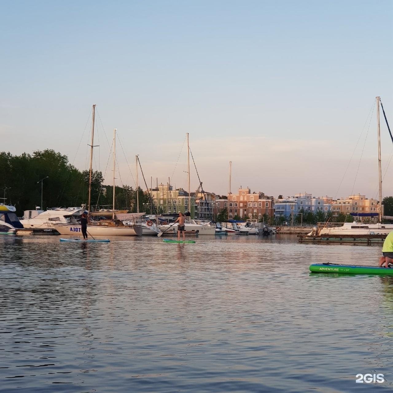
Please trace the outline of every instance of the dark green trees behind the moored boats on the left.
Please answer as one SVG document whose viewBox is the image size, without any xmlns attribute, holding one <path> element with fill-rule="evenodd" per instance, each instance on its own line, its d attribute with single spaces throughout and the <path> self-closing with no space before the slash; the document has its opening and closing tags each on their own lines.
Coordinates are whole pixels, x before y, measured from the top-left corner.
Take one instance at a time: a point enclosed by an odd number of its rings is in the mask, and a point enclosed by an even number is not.
<svg viewBox="0 0 393 393">
<path fill-rule="evenodd" d="M 79 207 L 88 203 L 88 170 L 79 171 L 68 157 L 51 149 L 22 153 L 19 156 L 0 152 L 0 202 L 12 204 L 17 215 L 24 210 L 56 207 Z M 101 171 L 92 173 L 92 210 L 112 208 L 113 186 L 104 185 Z M 150 210 L 149 194 L 138 187 L 140 211 Z M 145 204 L 145 205 L 144 205 Z M 136 211 L 136 190 L 129 185 L 115 188 L 115 209 Z"/>
</svg>

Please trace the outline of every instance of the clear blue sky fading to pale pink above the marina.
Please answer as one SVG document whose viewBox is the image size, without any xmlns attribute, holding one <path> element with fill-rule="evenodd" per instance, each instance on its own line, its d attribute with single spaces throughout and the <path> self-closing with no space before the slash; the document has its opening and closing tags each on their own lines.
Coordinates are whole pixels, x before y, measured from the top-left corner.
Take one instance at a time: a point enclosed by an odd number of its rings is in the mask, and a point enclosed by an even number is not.
<svg viewBox="0 0 393 393">
<path fill-rule="evenodd" d="M 2 3 L 0 151 L 54 149 L 134 186 L 378 195 L 375 96 L 393 125 L 393 2 Z M 367 136 L 367 138 L 366 138 Z M 393 153 L 381 112 L 383 194 Z M 356 149 L 355 149 L 356 147 Z M 387 169 L 386 169 L 387 168 Z M 198 186 L 191 161 L 191 191 Z M 139 174 L 141 181 L 141 174 Z"/>
</svg>

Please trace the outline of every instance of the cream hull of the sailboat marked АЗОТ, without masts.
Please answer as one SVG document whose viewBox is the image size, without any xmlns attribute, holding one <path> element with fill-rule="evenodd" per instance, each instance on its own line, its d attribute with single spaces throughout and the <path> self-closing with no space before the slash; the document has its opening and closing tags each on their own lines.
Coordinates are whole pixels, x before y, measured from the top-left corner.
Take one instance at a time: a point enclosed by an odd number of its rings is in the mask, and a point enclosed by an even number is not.
<svg viewBox="0 0 393 393">
<path fill-rule="evenodd" d="M 82 235 L 80 225 L 70 224 L 53 224 L 53 228 L 57 230 L 61 235 Z M 91 236 L 140 236 L 142 235 L 142 228 L 127 227 L 127 226 L 87 226 L 87 233 Z"/>
</svg>

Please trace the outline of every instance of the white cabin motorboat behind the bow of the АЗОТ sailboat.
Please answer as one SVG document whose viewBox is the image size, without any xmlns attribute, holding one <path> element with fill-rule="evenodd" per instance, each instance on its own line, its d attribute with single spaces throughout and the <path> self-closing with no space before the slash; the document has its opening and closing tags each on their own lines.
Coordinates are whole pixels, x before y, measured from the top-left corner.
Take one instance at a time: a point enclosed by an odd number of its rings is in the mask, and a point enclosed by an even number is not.
<svg viewBox="0 0 393 393">
<path fill-rule="evenodd" d="M 79 217 L 84 208 L 55 208 L 42 211 L 25 210 L 24 219 L 20 220 L 24 228 L 34 231 L 54 231 L 53 224 L 68 224 L 71 217 Z"/>
</svg>

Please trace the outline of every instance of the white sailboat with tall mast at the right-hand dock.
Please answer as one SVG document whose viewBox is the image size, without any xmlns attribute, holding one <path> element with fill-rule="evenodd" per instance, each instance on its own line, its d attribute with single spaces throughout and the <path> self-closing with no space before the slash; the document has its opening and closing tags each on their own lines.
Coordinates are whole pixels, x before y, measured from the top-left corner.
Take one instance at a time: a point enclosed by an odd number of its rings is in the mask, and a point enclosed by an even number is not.
<svg viewBox="0 0 393 393">
<path fill-rule="evenodd" d="M 309 235 L 387 235 L 393 231 L 393 224 L 382 224 L 382 171 L 381 171 L 381 131 L 380 131 L 380 116 L 379 107 L 381 98 L 376 99 L 376 121 L 378 132 L 378 174 L 379 174 L 379 213 L 377 224 L 365 224 L 363 222 L 345 222 L 343 226 L 339 227 L 322 227 L 321 229 L 314 227 Z"/>
</svg>

